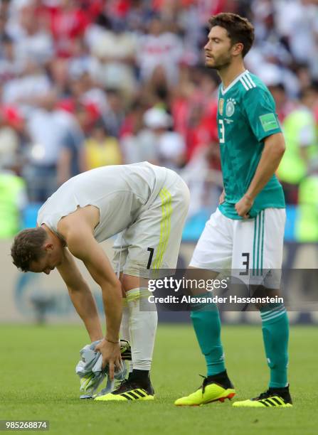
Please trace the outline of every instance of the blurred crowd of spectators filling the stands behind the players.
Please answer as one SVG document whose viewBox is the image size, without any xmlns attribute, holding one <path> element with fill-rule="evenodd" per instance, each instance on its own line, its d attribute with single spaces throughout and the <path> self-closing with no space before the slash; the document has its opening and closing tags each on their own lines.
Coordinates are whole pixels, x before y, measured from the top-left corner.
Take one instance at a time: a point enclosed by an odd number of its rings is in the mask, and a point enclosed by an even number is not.
<svg viewBox="0 0 318 435">
<path fill-rule="evenodd" d="M 246 65 L 285 131 L 290 237 L 318 241 L 318 0 L 2 0 L 0 238 L 68 178 L 109 164 L 173 168 L 190 218 L 216 207 L 218 76 L 202 48 L 221 11 L 255 26 Z"/>
</svg>

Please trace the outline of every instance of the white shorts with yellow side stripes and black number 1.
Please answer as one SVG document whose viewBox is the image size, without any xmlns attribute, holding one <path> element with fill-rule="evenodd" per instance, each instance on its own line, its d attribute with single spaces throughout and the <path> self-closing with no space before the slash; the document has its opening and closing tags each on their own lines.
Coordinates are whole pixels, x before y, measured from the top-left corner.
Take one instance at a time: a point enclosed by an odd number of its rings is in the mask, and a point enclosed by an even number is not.
<svg viewBox="0 0 318 435">
<path fill-rule="evenodd" d="M 115 272 L 150 278 L 161 269 L 174 270 L 189 201 L 188 186 L 171 172 L 154 202 L 115 240 Z"/>
</svg>

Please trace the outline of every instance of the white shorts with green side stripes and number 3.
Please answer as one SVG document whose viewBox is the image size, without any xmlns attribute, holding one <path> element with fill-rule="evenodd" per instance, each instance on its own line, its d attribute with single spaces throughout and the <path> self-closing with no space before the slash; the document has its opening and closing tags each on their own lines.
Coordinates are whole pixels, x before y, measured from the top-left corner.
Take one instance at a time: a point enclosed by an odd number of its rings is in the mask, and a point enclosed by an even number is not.
<svg viewBox="0 0 318 435">
<path fill-rule="evenodd" d="M 255 218 L 234 220 L 216 210 L 206 222 L 190 266 L 231 271 L 245 284 L 280 288 L 285 208 L 266 208 Z"/>
</svg>

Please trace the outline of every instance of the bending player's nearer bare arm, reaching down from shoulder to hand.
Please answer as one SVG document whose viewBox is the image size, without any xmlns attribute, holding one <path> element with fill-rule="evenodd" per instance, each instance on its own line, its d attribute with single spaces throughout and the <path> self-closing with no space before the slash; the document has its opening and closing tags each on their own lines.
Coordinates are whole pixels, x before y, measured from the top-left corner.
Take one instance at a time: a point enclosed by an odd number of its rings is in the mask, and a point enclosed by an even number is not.
<svg viewBox="0 0 318 435">
<path fill-rule="evenodd" d="M 103 356 L 103 365 L 109 363 L 110 377 L 114 364 L 120 366 L 120 323 L 122 320 L 122 289 L 105 252 L 92 235 L 90 225 L 82 222 L 75 230 L 68 231 L 68 249 L 81 259 L 92 278 L 102 289 L 102 301 L 106 316 L 106 336 L 97 346 Z"/>
</svg>

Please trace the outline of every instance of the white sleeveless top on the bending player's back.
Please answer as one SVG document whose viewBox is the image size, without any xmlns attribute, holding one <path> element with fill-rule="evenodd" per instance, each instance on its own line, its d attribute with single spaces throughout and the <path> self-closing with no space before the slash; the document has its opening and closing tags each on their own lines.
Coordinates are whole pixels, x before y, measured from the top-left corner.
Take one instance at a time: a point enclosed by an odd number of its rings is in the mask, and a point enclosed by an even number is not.
<svg viewBox="0 0 318 435">
<path fill-rule="evenodd" d="M 134 222 L 152 204 L 167 177 L 176 173 L 148 162 L 102 166 L 66 181 L 38 211 L 38 225 L 58 232 L 58 222 L 78 207 L 95 205 L 100 222 L 95 227 L 97 242 L 112 237 Z"/>
</svg>

